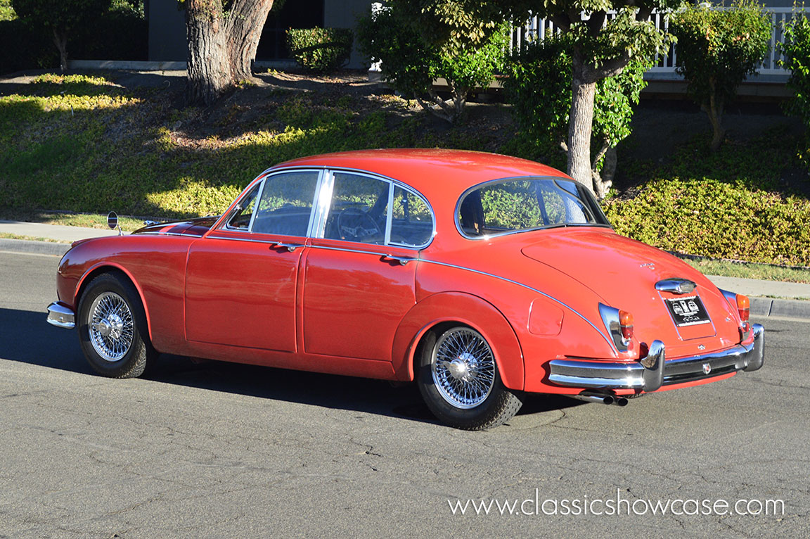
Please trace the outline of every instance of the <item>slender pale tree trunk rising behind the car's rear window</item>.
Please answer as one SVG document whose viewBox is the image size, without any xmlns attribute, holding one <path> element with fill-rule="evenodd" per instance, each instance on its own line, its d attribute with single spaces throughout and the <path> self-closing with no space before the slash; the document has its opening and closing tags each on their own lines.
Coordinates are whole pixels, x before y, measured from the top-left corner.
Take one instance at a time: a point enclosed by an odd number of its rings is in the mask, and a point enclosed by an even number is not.
<svg viewBox="0 0 810 539">
<path fill-rule="evenodd" d="M 568 175 L 593 192 L 590 168 L 590 132 L 594 120 L 596 81 L 586 76 L 580 51 L 573 53 L 571 116 L 568 121 Z"/>
</svg>

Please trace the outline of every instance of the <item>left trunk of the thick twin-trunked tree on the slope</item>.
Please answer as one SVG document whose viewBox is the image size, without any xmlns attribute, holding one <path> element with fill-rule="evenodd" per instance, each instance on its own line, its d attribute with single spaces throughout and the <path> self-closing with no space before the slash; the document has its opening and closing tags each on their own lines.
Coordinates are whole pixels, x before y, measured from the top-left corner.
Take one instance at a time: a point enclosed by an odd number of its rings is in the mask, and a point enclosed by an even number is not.
<svg viewBox="0 0 810 539">
<path fill-rule="evenodd" d="M 233 86 L 225 33 L 221 0 L 186 0 L 187 104 L 211 105 Z"/>
</svg>

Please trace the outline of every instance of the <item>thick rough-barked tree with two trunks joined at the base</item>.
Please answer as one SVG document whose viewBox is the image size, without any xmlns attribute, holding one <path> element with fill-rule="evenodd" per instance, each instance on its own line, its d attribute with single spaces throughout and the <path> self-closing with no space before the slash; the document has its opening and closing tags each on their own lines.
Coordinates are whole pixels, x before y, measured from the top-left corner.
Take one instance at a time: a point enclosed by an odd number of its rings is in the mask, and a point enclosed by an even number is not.
<svg viewBox="0 0 810 539">
<path fill-rule="evenodd" d="M 211 105 L 240 80 L 253 79 L 250 62 L 267 14 L 283 0 L 178 0 L 185 6 L 189 46 L 186 101 Z"/>
</svg>

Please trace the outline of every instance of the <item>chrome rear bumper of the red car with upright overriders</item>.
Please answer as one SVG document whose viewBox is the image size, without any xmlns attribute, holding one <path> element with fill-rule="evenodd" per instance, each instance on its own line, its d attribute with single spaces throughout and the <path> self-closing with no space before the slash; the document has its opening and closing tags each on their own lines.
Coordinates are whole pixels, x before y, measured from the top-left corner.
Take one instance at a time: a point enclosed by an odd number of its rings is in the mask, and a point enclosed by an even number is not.
<svg viewBox="0 0 810 539">
<path fill-rule="evenodd" d="M 738 370 L 757 370 L 765 360 L 765 328 L 755 323 L 752 330 L 752 344 L 737 344 L 719 352 L 669 361 L 660 340 L 654 340 L 647 356 L 633 363 L 555 359 L 549 363 L 548 380 L 569 387 L 655 391 L 673 383 L 693 382 Z"/>
</svg>

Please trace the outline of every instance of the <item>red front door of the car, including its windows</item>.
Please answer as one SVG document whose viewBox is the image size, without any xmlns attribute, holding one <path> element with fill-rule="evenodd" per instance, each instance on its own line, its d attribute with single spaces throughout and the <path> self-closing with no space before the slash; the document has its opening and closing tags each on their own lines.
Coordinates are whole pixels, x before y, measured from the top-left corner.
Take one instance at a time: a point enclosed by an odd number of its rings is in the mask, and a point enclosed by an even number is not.
<svg viewBox="0 0 810 539">
<path fill-rule="evenodd" d="M 189 250 L 186 339 L 296 351 L 298 267 L 322 172 L 273 173 Z"/>
</svg>

